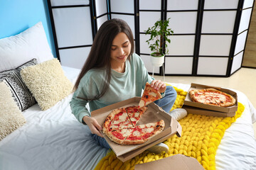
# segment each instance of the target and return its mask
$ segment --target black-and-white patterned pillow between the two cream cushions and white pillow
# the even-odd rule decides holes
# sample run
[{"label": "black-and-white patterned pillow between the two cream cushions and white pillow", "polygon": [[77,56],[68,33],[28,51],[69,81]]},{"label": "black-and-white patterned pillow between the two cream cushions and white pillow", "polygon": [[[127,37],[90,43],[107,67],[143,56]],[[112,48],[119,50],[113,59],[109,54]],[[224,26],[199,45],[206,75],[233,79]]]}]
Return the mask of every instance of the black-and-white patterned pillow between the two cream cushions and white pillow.
[{"label": "black-and-white patterned pillow between the two cream cushions and white pillow", "polygon": [[22,81],[20,72],[21,69],[36,64],[37,60],[33,59],[16,69],[0,72],[0,82],[4,81],[4,83],[9,86],[14,101],[16,101],[16,104],[21,111],[33,106],[36,103],[36,99],[32,96],[31,92]]}]

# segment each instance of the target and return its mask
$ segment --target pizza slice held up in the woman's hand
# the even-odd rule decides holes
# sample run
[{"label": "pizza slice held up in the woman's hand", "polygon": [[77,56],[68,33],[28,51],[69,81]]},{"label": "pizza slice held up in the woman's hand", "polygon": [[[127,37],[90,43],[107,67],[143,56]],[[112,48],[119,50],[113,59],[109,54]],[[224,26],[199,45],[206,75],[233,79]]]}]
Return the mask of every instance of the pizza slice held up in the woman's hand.
[{"label": "pizza slice held up in the woman's hand", "polygon": [[146,82],[146,86],[144,88],[144,93],[142,95],[141,100],[139,101],[139,107],[144,107],[149,103],[157,101],[161,98],[161,94],[158,90],[152,88],[149,82]]}]

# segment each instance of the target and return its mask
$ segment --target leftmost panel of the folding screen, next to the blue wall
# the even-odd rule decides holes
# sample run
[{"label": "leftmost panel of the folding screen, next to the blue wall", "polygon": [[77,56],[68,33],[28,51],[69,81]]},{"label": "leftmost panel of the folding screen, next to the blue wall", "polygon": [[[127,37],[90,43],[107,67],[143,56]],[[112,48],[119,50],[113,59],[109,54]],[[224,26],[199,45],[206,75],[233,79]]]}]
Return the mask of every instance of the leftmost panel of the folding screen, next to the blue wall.
[{"label": "leftmost panel of the folding screen, next to the blue wall", "polygon": [[48,6],[56,55],[64,66],[82,68],[93,40],[90,1],[48,0]]}]

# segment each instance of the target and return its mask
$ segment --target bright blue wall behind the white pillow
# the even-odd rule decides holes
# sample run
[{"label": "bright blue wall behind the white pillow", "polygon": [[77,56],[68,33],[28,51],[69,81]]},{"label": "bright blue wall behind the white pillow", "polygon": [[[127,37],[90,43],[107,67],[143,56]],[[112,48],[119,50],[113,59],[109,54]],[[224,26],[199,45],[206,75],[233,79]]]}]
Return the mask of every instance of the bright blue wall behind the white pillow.
[{"label": "bright blue wall behind the white pillow", "polygon": [[21,33],[39,21],[56,57],[47,0],[0,0],[0,38]]}]

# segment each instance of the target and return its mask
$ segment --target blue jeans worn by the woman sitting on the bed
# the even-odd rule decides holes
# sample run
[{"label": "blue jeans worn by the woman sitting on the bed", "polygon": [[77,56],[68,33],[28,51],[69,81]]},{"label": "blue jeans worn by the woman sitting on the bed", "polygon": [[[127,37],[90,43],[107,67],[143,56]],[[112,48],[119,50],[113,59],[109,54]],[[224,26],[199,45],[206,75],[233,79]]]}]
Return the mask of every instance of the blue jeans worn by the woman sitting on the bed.
[{"label": "blue jeans worn by the woman sitting on the bed", "polygon": [[[166,86],[165,96],[158,101],[154,101],[158,106],[164,109],[166,113],[171,111],[172,106],[174,106],[174,102],[176,100],[177,93],[173,86]],[[104,137],[100,137],[98,135],[92,134],[92,138],[95,140],[97,145],[101,147],[105,147],[107,149],[111,149],[110,145],[108,145],[107,141]]]}]

